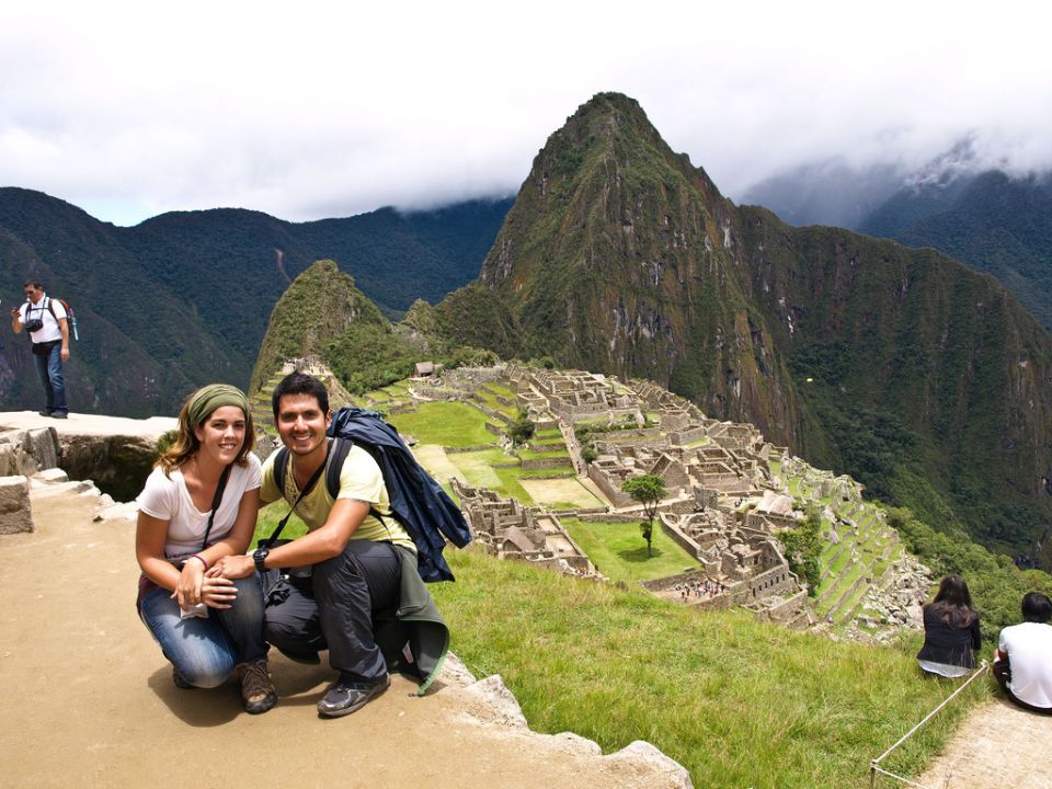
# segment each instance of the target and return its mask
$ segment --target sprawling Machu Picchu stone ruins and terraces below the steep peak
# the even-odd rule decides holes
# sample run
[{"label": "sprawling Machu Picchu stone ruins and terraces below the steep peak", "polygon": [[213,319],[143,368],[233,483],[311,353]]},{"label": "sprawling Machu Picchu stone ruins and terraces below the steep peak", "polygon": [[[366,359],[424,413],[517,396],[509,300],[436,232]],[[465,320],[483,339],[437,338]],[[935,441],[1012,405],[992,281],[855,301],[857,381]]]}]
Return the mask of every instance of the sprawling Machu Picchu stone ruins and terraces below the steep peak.
[{"label": "sprawling Machu Picchu stone ruins and terraces below the steep peak", "polygon": [[[319,363],[286,370],[294,366],[317,371]],[[740,606],[864,640],[919,627],[930,573],[864,501],[862,487],[811,467],[751,424],[709,419],[652,381],[518,364],[446,370],[422,363],[416,377],[357,404],[397,420],[435,401],[461,403],[483,421],[477,444],[418,451],[492,556],[603,579],[563,522],[638,524],[640,505],[622,487],[653,474],[666,491],[654,528],[694,562],[640,582],[659,597],[699,611]],[[534,433],[516,444],[512,425],[523,415]],[[808,511],[822,521],[815,588],[790,570],[779,539]]]}]

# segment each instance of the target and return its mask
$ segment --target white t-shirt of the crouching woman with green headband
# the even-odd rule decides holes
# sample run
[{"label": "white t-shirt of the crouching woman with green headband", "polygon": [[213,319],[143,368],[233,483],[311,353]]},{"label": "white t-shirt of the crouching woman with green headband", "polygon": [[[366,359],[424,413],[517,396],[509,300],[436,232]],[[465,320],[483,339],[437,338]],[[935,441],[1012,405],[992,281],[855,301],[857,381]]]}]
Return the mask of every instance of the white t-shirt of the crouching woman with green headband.
[{"label": "white t-shirt of the crouching woman with green headband", "polygon": [[[249,453],[247,466],[235,464],[230,467],[227,488],[216,508],[216,517],[208,533],[209,545],[226,537],[238,518],[241,496],[245,491],[256,490],[263,482],[260,459]],[[175,470],[171,476],[160,468],[146,479],[146,487],[136,499],[139,510],[161,521],[168,521],[168,539],[164,556],[172,561],[188,557],[202,549],[208,515],[211,511],[201,512],[194,506],[194,500],[186,490],[183,472]]]}]

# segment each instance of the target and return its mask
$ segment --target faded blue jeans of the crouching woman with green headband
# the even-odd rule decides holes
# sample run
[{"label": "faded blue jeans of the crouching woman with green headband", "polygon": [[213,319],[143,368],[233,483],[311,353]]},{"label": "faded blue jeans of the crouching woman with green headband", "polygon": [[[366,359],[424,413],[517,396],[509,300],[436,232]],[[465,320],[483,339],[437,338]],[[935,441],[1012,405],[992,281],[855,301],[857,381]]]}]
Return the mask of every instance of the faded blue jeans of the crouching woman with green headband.
[{"label": "faded blue jeans of the crouching woman with green headband", "polygon": [[167,588],[144,595],[139,615],[183,679],[195,687],[217,687],[239,663],[266,658],[263,640],[263,588],[260,576],[237,579],[232,608],[209,608],[208,618],[182,619]]}]

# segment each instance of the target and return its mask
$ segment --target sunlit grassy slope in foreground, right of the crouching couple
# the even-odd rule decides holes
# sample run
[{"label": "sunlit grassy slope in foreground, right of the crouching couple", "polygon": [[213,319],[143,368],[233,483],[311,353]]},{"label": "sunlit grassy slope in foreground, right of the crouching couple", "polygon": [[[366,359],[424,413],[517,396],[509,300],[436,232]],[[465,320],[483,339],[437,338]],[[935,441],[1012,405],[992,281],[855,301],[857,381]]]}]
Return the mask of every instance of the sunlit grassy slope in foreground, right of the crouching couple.
[{"label": "sunlit grassy slope in foreground, right of the crouching couple", "polygon": [[[868,786],[870,759],[957,686],[921,677],[918,643],[834,642],[473,551],[446,557],[457,583],[432,591],[454,651],[477,676],[500,674],[535,730],[606,752],[647,740],[696,787]],[[885,765],[915,774],[987,695],[973,683]]]}]

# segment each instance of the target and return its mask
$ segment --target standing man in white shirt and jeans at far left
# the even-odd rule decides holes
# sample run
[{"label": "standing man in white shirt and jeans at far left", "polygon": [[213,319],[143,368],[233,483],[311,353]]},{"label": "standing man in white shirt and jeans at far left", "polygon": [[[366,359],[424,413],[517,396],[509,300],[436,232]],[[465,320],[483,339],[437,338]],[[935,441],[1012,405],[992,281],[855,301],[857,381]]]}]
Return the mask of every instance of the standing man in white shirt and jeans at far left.
[{"label": "standing man in white shirt and jeans at far left", "polygon": [[69,361],[69,327],[61,301],[49,298],[44,286],[34,279],[23,285],[26,301],[11,310],[11,330],[21,334],[25,329],[33,343],[36,371],[44,385],[46,404],[42,416],[66,419],[66,377],[62,363]]}]

